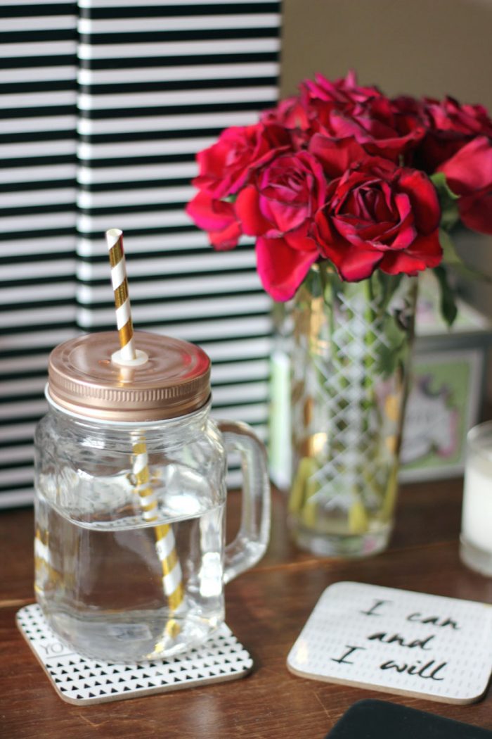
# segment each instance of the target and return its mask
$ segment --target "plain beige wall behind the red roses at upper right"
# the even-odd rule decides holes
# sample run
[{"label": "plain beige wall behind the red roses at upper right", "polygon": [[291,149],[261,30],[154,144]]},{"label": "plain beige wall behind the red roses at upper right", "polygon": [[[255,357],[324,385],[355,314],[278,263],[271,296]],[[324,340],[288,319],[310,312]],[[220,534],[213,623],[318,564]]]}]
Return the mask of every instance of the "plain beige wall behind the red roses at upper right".
[{"label": "plain beige wall behind the red roses at upper right", "polygon": [[[353,67],[388,95],[448,94],[492,114],[492,0],[283,0],[283,18],[283,96]],[[492,276],[492,237],[460,251]],[[463,287],[492,319],[492,285]]]}]

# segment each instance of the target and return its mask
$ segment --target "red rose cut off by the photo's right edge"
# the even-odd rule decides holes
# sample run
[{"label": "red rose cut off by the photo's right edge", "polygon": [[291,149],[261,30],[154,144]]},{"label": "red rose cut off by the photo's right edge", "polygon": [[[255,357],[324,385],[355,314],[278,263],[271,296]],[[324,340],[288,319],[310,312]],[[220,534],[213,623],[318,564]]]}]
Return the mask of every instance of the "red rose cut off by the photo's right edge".
[{"label": "red rose cut off by the photo's right edge", "polygon": [[492,234],[492,143],[479,136],[440,166],[451,190],[460,195],[462,222],[474,231]]}]

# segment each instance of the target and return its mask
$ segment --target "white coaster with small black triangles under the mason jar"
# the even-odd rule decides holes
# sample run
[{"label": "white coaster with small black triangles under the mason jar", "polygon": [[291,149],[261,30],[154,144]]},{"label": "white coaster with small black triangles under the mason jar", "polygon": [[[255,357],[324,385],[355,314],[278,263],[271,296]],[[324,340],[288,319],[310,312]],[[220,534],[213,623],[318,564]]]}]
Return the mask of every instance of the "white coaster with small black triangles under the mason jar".
[{"label": "white coaster with small black triangles under the mason jar", "polygon": [[114,664],[75,653],[49,628],[38,605],[21,608],[17,625],[60,698],[76,705],[235,680],[253,667],[251,655],[225,624],[201,647],[139,664]]}]

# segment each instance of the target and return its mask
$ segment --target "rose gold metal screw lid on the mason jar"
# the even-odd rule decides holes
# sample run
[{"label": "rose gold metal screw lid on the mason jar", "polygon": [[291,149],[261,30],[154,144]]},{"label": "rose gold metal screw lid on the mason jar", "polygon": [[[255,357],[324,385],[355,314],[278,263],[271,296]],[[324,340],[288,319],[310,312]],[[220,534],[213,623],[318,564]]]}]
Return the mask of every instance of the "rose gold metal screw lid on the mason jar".
[{"label": "rose gold metal screw lid on the mason jar", "polygon": [[143,331],[135,332],[135,344],[148,355],[137,367],[111,361],[117,331],[60,344],[49,356],[49,397],[77,415],[114,421],[176,418],[207,403],[210,360],[200,347]]}]

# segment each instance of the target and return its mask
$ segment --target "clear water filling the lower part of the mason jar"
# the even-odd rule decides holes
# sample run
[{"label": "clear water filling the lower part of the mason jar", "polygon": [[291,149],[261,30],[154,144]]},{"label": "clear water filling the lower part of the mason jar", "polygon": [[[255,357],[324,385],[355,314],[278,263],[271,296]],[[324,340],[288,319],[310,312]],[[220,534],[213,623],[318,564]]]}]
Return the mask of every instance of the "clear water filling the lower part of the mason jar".
[{"label": "clear water filling the lower part of the mason jar", "polygon": [[[117,499],[124,486],[112,482]],[[224,503],[183,514],[187,505],[173,497],[176,511],[181,507],[166,520],[181,567],[176,607],[165,593],[155,524],[123,514],[75,520],[40,483],[36,595],[52,628],[75,650],[108,661],[160,658],[201,644],[221,624]],[[109,483],[104,490],[111,497]]]}]

